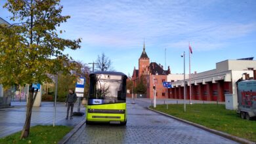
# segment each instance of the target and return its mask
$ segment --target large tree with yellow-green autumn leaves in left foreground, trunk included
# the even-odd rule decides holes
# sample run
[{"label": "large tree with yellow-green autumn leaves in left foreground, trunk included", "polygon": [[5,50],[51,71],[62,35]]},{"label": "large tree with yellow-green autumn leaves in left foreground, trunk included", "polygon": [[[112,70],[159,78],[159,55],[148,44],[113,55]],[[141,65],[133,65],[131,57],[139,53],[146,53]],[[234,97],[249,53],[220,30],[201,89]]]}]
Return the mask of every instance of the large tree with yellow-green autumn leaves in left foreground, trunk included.
[{"label": "large tree with yellow-green autumn leaves in left foreground, trunk included", "polygon": [[[20,138],[30,134],[33,102],[33,83],[51,81],[48,74],[68,73],[72,65],[66,48],[80,48],[81,39],[62,39],[56,28],[70,16],[62,16],[60,0],[8,0],[4,8],[12,13],[11,27],[0,26],[0,83],[3,86],[30,84],[26,121]],[[65,65],[65,66],[64,66]]]}]

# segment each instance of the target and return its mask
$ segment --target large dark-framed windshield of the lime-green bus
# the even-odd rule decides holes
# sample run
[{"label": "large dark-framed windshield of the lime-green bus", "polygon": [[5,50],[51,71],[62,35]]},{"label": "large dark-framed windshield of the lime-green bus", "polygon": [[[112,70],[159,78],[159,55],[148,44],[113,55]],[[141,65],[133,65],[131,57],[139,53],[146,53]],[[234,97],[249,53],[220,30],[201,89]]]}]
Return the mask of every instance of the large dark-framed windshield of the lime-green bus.
[{"label": "large dark-framed windshield of the lime-green bus", "polygon": [[90,75],[89,105],[124,103],[126,79],[121,75]]}]

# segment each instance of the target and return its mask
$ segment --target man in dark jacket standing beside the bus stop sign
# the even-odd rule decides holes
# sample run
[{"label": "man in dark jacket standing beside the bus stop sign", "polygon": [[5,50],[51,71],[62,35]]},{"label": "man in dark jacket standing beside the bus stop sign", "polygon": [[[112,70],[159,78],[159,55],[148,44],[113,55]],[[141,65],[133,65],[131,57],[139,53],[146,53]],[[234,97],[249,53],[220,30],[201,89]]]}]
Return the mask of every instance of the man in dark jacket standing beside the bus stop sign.
[{"label": "man in dark jacket standing beside the bus stop sign", "polygon": [[66,107],[68,106],[66,120],[68,119],[69,111],[70,111],[70,120],[73,119],[72,114],[73,114],[73,108],[74,108],[74,103],[75,103],[76,99],[77,99],[77,96],[76,96],[74,90],[70,89],[69,93],[67,95],[67,98],[66,98]]}]

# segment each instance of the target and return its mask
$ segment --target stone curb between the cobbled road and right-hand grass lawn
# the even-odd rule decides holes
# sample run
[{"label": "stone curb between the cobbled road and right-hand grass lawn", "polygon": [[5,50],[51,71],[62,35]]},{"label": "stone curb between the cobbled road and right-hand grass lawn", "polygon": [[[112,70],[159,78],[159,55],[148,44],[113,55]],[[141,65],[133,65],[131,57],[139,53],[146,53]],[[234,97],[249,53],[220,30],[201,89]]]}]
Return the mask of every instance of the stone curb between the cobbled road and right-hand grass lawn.
[{"label": "stone curb between the cobbled road and right-hand grass lawn", "polygon": [[[148,107],[148,109],[150,109],[150,107]],[[151,110],[151,111],[154,111],[154,112],[156,112],[156,113],[160,113],[161,115],[165,115],[165,116],[167,116],[167,117],[171,117],[171,118],[173,118],[173,119],[175,119],[175,120],[179,120],[179,121],[184,122],[184,123],[186,123],[186,124],[190,124],[190,125],[192,125],[192,126],[196,126],[197,128],[201,128],[202,130],[205,130],[205,131],[207,131],[207,132],[211,132],[211,133],[213,133],[213,134],[220,135],[220,136],[222,136],[222,137],[226,137],[226,138],[231,139],[231,140],[233,140],[233,141],[236,141],[236,142],[238,142],[238,143],[250,143],[250,144],[255,144],[255,142],[249,141],[249,140],[247,140],[247,139],[243,139],[243,138],[241,138],[241,137],[237,137],[237,136],[234,136],[234,135],[226,134],[226,133],[224,133],[224,132],[220,132],[220,131],[217,131],[217,130],[213,130],[213,129],[211,129],[211,128],[207,128],[207,127],[205,127],[205,126],[202,126],[202,125],[200,125],[200,124],[195,124],[195,123],[193,123],[193,122],[189,122],[189,121],[183,120],[183,119],[181,119],[181,118],[173,117],[172,115],[167,115],[166,113],[162,113],[162,112],[156,111],[156,110],[154,110],[154,109],[150,109],[150,110]]]}]

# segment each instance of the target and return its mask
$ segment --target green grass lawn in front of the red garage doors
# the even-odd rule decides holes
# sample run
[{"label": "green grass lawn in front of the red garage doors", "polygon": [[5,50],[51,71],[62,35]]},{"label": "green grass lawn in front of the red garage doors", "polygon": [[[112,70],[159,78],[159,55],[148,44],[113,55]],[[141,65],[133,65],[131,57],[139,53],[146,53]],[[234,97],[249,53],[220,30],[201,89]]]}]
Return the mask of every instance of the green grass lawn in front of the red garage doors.
[{"label": "green grass lawn in front of the red garage doors", "polygon": [[225,105],[186,105],[185,113],[182,104],[171,104],[168,107],[166,109],[166,105],[157,105],[155,110],[256,142],[256,120],[244,120],[236,111],[225,109]]}]

